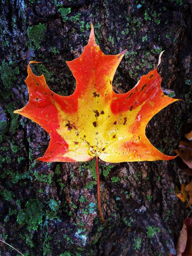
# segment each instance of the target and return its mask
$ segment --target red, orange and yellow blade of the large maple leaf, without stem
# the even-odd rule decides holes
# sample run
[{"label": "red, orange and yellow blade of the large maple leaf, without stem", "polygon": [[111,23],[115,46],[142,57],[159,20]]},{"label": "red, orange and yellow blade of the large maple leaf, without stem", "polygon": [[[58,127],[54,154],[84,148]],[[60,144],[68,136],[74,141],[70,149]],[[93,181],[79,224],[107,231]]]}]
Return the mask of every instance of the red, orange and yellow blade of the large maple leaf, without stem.
[{"label": "red, orange and yellow blade of the large maple leaf, without stem", "polygon": [[143,75],[127,93],[117,94],[112,89],[113,76],[125,53],[104,55],[91,24],[83,53],[66,62],[76,79],[76,89],[70,96],[51,91],[44,75],[31,71],[30,64],[37,62],[29,63],[25,82],[30,98],[14,113],[30,118],[50,134],[48,149],[38,160],[74,162],[98,156],[118,163],[175,158],[162,154],[145,135],[149,120],[177,101],[163,94],[157,68]]}]

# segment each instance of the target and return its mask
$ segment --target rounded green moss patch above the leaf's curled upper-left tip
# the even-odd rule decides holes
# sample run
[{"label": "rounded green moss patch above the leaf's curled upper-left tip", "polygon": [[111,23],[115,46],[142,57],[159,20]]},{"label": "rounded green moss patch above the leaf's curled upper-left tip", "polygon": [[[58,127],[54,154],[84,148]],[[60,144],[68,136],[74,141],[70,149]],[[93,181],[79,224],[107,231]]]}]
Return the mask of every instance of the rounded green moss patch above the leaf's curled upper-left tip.
[{"label": "rounded green moss patch above the leaf's curled upper-left tip", "polygon": [[40,43],[43,42],[43,40],[45,39],[45,30],[46,30],[45,24],[41,24],[41,23],[33,27],[28,27],[27,29],[28,38],[30,42],[34,43],[36,49],[41,48]]}]

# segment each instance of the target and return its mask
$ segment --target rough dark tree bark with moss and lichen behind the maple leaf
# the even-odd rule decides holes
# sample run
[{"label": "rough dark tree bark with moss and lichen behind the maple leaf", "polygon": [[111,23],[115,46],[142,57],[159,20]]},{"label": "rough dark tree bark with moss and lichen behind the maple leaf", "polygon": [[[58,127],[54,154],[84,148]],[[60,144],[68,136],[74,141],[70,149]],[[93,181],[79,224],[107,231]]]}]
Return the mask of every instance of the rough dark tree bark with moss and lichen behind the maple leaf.
[{"label": "rough dark tree bark with moss and lichen behind the maple leaf", "polygon": [[[146,134],[167,155],[177,148],[189,118],[189,2],[2,0],[0,239],[25,256],[176,255],[174,244],[189,213],[174,195],[174,184],[189,183],[178,160],[114,165],[99,160],[107,220],[102,224],[95,162],[36,161],[45,153],[49,136],[36,123],[13,114],[28,101],[24,80],[30,60],[43,62],[33,70],[44,73],[53,91],[73,93],[75,80],[65,62],[83,51],[91,21],[105,54],[128,49],[114,77],[116,92],[130,90],[166,50],[159,67],[162,87],[185,102],[158,113]],[[1,242],[0,254],[18,255]]]}]

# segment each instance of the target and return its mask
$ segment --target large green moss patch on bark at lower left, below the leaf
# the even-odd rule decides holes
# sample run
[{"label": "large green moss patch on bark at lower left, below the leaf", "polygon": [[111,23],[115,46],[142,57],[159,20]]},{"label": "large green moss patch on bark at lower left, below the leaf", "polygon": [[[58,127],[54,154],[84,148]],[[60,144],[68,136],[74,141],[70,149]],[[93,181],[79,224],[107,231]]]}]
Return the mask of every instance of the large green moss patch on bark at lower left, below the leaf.
[{"label": "large green moss patch on bark at lower left, below the leaf", "polygon": [[20,225],[27,225],[28,231],[37,230],[43,221],[43,204],[38,199],[30,199],[24,209],[20,209],[17,222]]}]

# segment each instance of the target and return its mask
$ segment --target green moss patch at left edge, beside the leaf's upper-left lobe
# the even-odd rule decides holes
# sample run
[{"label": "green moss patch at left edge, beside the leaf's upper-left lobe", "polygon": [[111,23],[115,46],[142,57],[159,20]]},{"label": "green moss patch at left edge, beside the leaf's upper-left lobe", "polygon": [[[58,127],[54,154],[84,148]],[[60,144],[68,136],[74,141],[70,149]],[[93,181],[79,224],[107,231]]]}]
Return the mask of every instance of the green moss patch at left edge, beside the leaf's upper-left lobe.
[{"label": "green moss patch at left edge, beside the leaf's upper-left lobe", "polygon": [[13,63],[7,63],[3,60],[2,65],[0,66],[0,74],[3,83],[1,95],[3,99],[7,99],[10,96],[10,88],[13,87],[13,81],[17,80],[19,68],[18,66],[14,68]]}]

